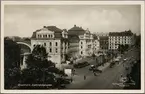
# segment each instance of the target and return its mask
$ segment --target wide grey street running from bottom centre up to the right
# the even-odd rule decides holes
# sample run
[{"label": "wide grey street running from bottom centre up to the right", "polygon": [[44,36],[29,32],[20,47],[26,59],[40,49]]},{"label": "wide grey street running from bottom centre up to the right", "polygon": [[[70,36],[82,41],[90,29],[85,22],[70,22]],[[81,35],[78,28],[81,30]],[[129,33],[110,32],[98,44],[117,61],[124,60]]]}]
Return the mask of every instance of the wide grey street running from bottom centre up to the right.
[{"label": "wide grey street running from bottom centre up to the right", "polygon": [[[123,59],[126,58],[126,61]],[[72,84],[67,86],[67,89],[123,89],[123,87],[117,85],[121,78],[126,77],[131,71],[130,62],[139,58],[139,51],[136,48],[132,48],[124,54],[119,64],[116,64],[113,68],[107,67],[101,74],[94,76],[93,72],[89,71],[89,66],[81,69],[76,69],[76,75],[73,77]],[[94,61],[91,61],[94,63]],[[125,68],[129,67],[128,70]],[[84,80],[84,75],[86,80]]]}]

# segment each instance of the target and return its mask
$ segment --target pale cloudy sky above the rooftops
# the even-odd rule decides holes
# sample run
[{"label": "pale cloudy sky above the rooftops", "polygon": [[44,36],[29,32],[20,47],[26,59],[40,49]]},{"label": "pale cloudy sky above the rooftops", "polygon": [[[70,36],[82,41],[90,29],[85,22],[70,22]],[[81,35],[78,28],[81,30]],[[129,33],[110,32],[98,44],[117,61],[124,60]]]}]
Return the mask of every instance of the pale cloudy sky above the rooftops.
[{"label": "pale cloudy sky above the rooftops", "polygon": [[92,33],[131,30],[140,34],[140,5],[5,5],[4,35],[31,37],[43,26]]}]

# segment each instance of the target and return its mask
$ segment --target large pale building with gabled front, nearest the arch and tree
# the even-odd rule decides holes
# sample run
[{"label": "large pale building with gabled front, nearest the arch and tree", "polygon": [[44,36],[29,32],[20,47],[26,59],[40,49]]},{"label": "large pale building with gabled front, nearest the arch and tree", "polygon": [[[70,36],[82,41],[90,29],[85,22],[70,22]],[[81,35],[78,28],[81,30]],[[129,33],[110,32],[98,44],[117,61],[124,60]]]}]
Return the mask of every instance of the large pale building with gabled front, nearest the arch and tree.
[{"label": "large pale building with gabled front, nearest the arch and tree", "polygon": [[32,49],[36,45],[42,45],[48,52],[48,60],[60,66],[65,61],[65,55],[68,51],[68,33],[56,26],[44,26],[43,28],[33,32],[31,37]]}]

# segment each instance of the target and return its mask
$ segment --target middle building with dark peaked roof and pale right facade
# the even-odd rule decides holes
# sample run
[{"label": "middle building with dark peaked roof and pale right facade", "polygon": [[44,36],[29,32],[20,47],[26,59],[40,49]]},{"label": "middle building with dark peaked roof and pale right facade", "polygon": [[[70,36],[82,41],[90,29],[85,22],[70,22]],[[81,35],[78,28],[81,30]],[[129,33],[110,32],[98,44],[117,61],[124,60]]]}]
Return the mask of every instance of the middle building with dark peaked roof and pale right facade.
[{"label": "middle building with dark peaked roof and pale right facade", "polygon": [[71,56],[85,57],[93,54],[93,35],[90,31],[74,25],[68,30],[69,53]]}]

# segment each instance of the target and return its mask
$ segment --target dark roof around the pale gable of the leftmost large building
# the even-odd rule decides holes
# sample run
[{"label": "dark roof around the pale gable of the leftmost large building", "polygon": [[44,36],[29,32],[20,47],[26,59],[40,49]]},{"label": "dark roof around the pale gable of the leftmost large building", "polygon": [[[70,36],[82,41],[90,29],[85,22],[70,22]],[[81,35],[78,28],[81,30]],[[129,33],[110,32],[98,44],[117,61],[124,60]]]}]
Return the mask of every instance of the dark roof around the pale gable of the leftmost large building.
[{"label": "dark roof around the pale gable of the leftmost large building", "polygon": [[[56,38],[60,38],[61,37],[61,32],[63,32],[63,30],[57,28],[56,26],[44,26],[43,28],[47,28],[50,31],[54,31]],[[38,29],[38,30],[34,31],[31,38],[36,38],[36,33],[41,31],[42,29]]]}]

